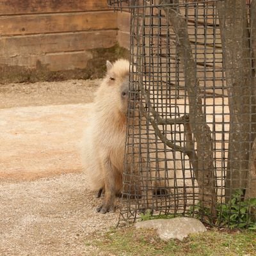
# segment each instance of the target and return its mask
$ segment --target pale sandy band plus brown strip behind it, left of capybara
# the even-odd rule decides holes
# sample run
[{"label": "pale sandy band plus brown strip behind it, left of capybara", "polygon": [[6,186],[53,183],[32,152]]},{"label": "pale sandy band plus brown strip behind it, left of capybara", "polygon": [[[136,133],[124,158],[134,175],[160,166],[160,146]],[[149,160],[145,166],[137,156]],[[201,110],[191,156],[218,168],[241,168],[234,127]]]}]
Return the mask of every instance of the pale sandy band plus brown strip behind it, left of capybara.
[{"label": "pale sandy band plus brown strip behind it, left of capybara", "polygon": [[99,83],[0,84],[0,179],[81,172],[79,141]]}]

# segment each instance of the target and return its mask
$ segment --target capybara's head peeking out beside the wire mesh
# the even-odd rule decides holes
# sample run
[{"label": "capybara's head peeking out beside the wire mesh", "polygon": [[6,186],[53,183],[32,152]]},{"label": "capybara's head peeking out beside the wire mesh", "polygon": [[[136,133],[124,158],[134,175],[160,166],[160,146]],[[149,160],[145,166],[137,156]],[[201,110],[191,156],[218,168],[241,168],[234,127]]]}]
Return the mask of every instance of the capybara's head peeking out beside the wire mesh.
[{"label": "capybara's head peeking out beside the wire mesh", "polygon": [[106,83],[113,92],[113,104],[126,115],[129,99],[129,61],[117,60],[113,64],[107,61]]}]

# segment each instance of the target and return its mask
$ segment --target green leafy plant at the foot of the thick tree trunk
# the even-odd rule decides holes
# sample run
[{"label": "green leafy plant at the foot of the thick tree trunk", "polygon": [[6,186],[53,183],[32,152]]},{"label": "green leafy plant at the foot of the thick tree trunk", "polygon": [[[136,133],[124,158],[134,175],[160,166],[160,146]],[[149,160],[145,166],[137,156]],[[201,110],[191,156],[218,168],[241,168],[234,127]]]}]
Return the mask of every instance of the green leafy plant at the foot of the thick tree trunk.
[{"label": "green leafy plant at the foot of the thick tree trunk", "polygon": [[237,190],[228,204],[218,205],[217,224],[230,228],[249,228],[256,230],[256,216],[253,214],[256,209],[256,198],[243,200],[243,191]]}]

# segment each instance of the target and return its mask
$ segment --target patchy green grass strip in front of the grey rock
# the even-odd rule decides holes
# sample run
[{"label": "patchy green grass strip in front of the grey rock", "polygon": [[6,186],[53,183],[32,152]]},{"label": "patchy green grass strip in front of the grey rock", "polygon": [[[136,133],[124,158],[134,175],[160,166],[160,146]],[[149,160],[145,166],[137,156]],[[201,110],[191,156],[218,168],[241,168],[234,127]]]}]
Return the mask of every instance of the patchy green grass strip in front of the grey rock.
[{"label": "patchy green grass strip in front of the grey rock", "polygon": [[161,241],[155,230],[113,228],[106,234],[95,234],[85,246],[98,248],[111,256],[184,256],[184,255],[256,255],[256,232],[253,230],[223,232],[209,230],[183,241]]}]

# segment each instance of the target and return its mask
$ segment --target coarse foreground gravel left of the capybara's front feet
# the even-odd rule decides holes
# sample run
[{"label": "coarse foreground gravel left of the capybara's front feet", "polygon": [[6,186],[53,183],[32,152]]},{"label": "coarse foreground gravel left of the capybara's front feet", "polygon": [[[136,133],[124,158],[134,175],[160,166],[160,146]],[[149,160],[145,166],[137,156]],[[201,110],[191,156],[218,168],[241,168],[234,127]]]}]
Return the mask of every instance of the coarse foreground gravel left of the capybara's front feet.
[{"label": "coarse foreground gravel left of the capybara's front feet", "polygon": [[99,214],[101,198],[83,174],[0,184],[0,255],[104,255],[86,237],[116,225],[118,212]]}]

